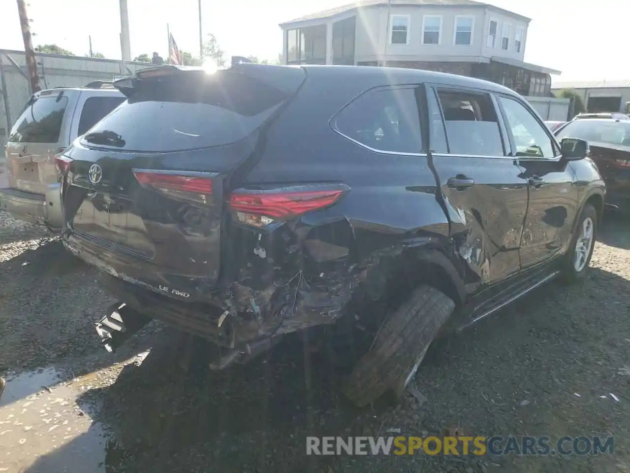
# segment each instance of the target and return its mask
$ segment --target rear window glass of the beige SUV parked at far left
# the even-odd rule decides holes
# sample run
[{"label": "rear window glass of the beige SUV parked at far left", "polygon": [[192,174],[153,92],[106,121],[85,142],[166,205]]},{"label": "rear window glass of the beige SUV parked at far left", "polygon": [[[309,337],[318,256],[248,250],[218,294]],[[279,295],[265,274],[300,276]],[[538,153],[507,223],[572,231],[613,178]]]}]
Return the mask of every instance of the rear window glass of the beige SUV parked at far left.
[{"label": "rear window glass of the beige SUV parked at far left", "polygon": [[9,141],[57,143],[67,105],[64,96],[31,99],[11,129]]}]

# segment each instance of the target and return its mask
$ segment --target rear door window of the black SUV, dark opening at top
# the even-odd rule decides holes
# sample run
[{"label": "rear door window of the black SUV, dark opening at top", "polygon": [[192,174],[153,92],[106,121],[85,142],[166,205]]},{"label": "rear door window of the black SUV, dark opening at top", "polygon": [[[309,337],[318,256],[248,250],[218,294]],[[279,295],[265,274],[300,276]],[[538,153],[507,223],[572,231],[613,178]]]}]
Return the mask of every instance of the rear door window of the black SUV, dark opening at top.
[{"label": "rear door window of the black SUV, dark opening at top", "polygon": [[495,106],[489,95],[438,90],[449,153],[470,156],[504,156]]}]

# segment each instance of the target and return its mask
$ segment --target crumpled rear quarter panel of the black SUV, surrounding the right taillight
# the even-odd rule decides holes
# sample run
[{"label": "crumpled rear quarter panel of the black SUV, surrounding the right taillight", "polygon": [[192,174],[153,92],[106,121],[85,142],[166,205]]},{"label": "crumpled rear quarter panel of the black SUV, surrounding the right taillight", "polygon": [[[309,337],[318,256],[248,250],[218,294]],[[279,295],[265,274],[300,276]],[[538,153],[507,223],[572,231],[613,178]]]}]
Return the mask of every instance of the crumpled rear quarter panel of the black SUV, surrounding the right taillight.
[{"label": "crumpled rear quarter panel of the black SUV, surrounding the right taillight", "polygon": [[[354,96],[369,88],[360,81],[348,86]],[[394,271],[387,262],[404,251],[454,255],[427,156],[371,151],[328,126],[347,102],[344,87],[331,84],[321,95],[321,87],[311,90],[307,80],[268,130],[262,158],[243,183],[286,187],[307,180],[350,187],[333,206],[271,231],[232,228],[238,276],[222,304],[259,317],[261,334],[333,322],[360,286],[375,296]]]}]

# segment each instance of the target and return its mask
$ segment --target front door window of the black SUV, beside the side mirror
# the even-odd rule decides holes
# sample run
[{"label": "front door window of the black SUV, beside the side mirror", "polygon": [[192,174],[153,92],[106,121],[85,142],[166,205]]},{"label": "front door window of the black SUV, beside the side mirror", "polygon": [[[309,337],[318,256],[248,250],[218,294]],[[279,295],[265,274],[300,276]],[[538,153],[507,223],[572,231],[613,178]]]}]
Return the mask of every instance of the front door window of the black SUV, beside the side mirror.
[{"label": "front door window of the black SUV, beside the side mirror", "polygon": [[555,147],[551,137],[534,114],[513,98],[499,97],[503,105],[516,146],[516,156],[527,158],[553,158]]}]

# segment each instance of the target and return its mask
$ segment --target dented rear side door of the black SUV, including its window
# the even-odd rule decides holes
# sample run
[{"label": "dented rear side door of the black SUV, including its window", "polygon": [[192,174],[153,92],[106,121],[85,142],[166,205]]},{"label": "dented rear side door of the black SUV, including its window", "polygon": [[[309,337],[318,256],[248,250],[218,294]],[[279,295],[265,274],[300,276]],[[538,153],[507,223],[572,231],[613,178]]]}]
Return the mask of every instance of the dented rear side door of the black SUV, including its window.
[{"label": "dented rear side door of the black SUV, including its window", "polygon": [[520,269],[527,179],[513,158],[493,96],[481,90],[429,87],[430,147],[451,237],[482,284]]}]

